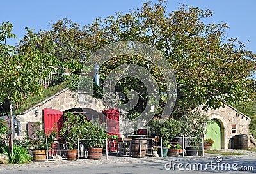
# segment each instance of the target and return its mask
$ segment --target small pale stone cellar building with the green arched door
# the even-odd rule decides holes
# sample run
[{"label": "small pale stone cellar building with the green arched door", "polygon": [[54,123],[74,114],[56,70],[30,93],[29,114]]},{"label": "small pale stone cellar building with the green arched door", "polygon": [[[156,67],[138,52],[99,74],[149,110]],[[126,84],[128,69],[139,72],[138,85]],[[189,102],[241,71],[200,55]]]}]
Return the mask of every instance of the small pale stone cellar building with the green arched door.
[{"label": "small pale stone cellar building with the green arched door", "polygon": [[225,105],[218,110],[207,110],[204,114],[211,120],[211,124],[206,126],[204,137],[214,140],[212,149],[233,149],[234,136],[246,134],[249,137],[250,117],[233,106]]}]

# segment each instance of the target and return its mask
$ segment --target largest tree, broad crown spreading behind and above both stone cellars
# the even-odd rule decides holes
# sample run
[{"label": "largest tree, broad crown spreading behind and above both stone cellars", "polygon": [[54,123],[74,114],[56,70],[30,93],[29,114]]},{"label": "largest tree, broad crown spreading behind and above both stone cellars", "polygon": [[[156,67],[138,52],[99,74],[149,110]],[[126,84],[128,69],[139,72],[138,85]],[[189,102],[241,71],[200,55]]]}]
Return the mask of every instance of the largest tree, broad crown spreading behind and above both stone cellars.
[{"label": "largest tree, broad crown spreading behind and above both stone cellars", "polygon": [[[237,38],[227,39],[227,24],[202,21],[211,16],[211,10],[184,4],[169,13],[164,1],[147,2],[141,9],[97,18],[84,27],[63,19],[52,24],[50,32],[57,44],[58,59],[80,68],[84,57],[88,58],[99,48],[116,41],[140,41],[156,48],[173,68],[179,87],[175,113],[183,115],[201,104],[205,104],[205,108],[218,108],[255,99],[255,80],[250,78],[256,71],[255,54],[246,50]],[[106,62],[100,70],[102,80],[111,69],[125,63],[148,69],[156,77],[161,94],[166,91],[159,69],[134,55],[113,57]],[[147,91],[136,78],[125,78],[116,87],[116,91],[124,93],[132,89],[140,92],[142,103],[147,101]],[[164,97],[160,104],[161,111],[165,105]],[[143,105],[140,107],[143,110]]]}]

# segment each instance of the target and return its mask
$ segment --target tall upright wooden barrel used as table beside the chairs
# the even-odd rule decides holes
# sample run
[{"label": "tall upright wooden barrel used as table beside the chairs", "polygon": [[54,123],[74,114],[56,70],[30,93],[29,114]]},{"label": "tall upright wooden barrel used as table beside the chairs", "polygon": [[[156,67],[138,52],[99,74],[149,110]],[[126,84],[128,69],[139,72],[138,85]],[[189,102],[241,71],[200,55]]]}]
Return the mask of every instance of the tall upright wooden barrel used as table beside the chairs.
[{"label": "tall upright wooden barrel used as table beside the chairs", "polygon": [[132,138],[131,151],[132,157],[145,157],[147,151],[147,140],[137,137]]}]

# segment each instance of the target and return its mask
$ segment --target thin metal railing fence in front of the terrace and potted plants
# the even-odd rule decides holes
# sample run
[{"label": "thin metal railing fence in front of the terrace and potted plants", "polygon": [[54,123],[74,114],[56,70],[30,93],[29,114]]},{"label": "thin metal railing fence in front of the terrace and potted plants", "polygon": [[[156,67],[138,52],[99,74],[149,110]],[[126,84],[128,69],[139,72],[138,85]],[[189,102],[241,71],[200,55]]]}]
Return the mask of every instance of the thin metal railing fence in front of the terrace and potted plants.
[{"label": "thin metal railing fence in front of the terrace and potted plants", "polygon": [[[158,149],[161,150],[159,152],[159,156],[163,157],[163,148],[166,144],[169,146],[177,145],[179,144],[181,147],[181,152],[179,153],[179,156],[185,156],[186,155],[186,148],[191,147],[191,144],[196,142],[196,147],[198,147],[198,156],[204,156],[204,139],[198,138],[198,137],[174,137],[174,138],[162,138],[162,137],[136,137],[137,140],[140,141],[138,144],[138,156],[137,157],[143,157],[143,151],[145,150],[145,154],[147,156],[152,156],[153,150]],[[8,141],[8,140],[7,140]],[[33,145],[33,141],[36,140],[14,140],[15,145],[19,145],[22,147],[26,147],[29,150],[29,153],[35,149],[35,146]],[[96,140],[88,140],[88,139],[77,139],[77,140],[54,140],[51,144],[49,143],[49,140],[41,140],[42,143],[45,143],[46,148],[46,161],[49,159],[52,159],[53,156],[59,155],[63,159],[66,159],[66,150],[68,149],[68,144],[70,141],[76,142],[75,149],[77,149],[77,159],[88,159],[88,146],[86,145],[86,141],[96,141]],[[132,151],[134,152],[134,149],[132,149],[132,138],[127,138],[123,141],[116,141],[116,139],[113,139],[113,142],[109,141],[109,138],[104,140],[106,143],[103,147],[102,154],[106,156],[106,159],[108,159],[108,156],[132,156]],[[143,142],[145,143],[145,149],[143,149],[142,145]],[[112,143],[112,144],[111,144]],[[114,143],[114,144],[113,144]],[[125,150],[124,150],[125,148]],[[122,152],[121,152],[122,150]],[[126,153],[125,153],[126,152]]]}]

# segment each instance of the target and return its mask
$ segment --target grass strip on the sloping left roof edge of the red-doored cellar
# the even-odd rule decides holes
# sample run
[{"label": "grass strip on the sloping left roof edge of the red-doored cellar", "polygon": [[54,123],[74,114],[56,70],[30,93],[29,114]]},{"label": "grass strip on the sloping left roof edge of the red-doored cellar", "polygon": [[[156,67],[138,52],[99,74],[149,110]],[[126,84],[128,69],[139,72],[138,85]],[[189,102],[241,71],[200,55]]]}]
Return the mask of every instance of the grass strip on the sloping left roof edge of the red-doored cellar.
[{"label": "grass strip on the sloping left roof edge of the red-doored cellar", "polygon": [[16,114],[22,113],[26,110],[28,110],[29,108],[35,106],[36,104],[40,103],[41,101],[44,101],[45,99],[51,97],[52,95],[56,94],[57,92],[61,91],[62,89],[65,89],[67,87],[67,82],[63,82],[60,85],[55,85],[52,87],[48,87],[47,89],[44,89],[44,91],[42,91],[41,95],[35,95],[35,96],[31,96],[27,99],[25,99],[22,102],[22,105],[17,108],[16,110]]}]

